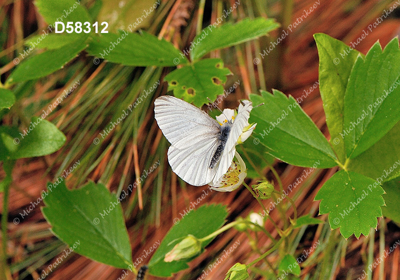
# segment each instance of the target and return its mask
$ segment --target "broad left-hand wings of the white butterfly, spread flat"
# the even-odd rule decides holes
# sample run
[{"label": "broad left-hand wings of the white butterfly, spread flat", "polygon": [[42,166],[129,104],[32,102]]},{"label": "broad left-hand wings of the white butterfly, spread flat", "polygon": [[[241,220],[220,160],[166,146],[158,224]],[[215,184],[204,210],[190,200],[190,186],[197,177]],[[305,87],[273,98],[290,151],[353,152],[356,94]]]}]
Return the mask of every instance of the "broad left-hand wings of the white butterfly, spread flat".
[{"label": "broad left-hand wings of the white butterfly, spread flat", "polygon": [[192,185],[209,183],[215,174],[215,169],[208,165],[218,145],[218,122],[173,96],[160,96],[154,105],[158,126],[171,143],[168,162],[172,171]]}]

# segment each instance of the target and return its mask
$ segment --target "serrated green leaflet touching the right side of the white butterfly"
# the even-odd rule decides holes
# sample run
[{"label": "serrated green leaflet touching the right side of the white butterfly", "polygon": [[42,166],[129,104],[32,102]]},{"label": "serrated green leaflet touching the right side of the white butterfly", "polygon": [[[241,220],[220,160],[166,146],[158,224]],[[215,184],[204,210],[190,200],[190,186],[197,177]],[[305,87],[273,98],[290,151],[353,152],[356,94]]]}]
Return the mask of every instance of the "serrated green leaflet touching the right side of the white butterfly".
[{"label": "serrated green leaflet touching the right side of the white butterfly", "polygon": [[262,91],[251,94],[253,105],[249,122],[257,125],[252,133],[254,144],[267,147],[268,153],[287,163],[314,168],[336,165],[335,154],[321,131],[296,100],[282,92]]}]

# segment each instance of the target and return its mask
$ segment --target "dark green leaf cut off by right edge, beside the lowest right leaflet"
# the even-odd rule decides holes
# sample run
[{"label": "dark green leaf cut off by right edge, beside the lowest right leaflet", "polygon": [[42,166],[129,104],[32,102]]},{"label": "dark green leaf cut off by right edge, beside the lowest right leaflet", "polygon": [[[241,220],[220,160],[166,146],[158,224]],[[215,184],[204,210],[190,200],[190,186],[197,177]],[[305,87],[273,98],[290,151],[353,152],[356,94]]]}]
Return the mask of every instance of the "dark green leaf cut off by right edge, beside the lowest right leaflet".
[{"label": "dark green leaf cut off by right edge, beside the lowest right leaflet", "polygon": [[382,185],[384,191],[383,199],[385,206],[382,206],[382,213],[385,217],[400,223],[400,177],[394,178]]}]

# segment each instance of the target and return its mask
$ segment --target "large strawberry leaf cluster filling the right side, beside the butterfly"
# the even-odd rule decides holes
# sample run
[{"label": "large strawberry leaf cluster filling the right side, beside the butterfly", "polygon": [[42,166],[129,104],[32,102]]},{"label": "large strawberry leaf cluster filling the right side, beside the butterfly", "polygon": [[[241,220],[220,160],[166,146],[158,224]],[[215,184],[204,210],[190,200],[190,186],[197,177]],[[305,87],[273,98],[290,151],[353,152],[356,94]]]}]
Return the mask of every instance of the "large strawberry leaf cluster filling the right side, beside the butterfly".
[{"label": "large strawberry leaf cluster filling the right side, beside the butterfly", "polygon": [[[251,95],[253,143],[293,165],[339,166],[315,199],[344,237],[367,235],[382,216],[384,182],[400,174],[400,49],[392,39],[366,55],[326,34],[314,35],[319,86],[330,142],[292,97],[278,90]],[[398,185],[397,185],[398,187]],[[387,184],[393,189],[393,184]],[[398,190],[398,188],[397,188]],[[390,191],[390,190],[389,190]],[[393,215],[391,205],[385,212]]]}]

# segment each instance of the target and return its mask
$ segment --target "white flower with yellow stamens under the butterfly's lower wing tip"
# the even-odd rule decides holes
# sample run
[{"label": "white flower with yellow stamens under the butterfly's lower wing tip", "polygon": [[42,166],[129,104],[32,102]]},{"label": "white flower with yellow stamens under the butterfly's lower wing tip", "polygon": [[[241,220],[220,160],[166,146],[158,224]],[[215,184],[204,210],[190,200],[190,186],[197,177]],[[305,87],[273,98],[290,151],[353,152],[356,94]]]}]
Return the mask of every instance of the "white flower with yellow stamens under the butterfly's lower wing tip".
[{"label": "white flower with yellow stamens under the butterfly's lower wing tip", "polygon": [[235,151],[234,155],[235,158],[233,158],[232,164],[230,164],[226,173],[221,178],[209,183],[211,189],[216,191],[232,191],[243,183],[247,175],[246,164],[237,151]]}]

